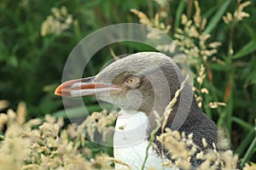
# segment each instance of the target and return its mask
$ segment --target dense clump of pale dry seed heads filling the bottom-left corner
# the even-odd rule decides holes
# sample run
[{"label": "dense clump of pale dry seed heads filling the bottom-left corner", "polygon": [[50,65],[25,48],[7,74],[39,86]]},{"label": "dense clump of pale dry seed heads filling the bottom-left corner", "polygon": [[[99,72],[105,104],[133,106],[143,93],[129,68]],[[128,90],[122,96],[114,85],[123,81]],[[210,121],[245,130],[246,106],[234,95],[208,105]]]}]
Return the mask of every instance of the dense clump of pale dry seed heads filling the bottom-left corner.
[{"label": "dense clump of pale dry seed heads filling the bottom-left corner", "polygon": [[[63,128],[62,118],[49,115],[45,116],[45,122],[39,119],[23,122],[26,120],[24,103],[17,111],[20,111],[19,115],[13,110],[1,114],[1,118],[5,117],[1,126],[7,126],[7,129],[0,143],[0,169],[113,169],[110,166],[113,160],[105,154],[92,159],[84,133],[79,133],[78,127]],[[102,121],[96,126],[105,125],[108,123]]]}]

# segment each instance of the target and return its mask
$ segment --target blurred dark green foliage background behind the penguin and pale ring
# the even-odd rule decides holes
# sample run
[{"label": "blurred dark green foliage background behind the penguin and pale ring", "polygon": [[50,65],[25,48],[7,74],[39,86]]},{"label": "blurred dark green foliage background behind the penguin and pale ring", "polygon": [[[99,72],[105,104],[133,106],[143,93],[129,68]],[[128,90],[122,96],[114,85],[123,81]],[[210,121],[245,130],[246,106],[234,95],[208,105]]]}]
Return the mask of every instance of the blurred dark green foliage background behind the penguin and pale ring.
[{"label": "blurred dark green foliage background behind the penguin and pale ring", "polygon": [[[43,117],[45,114],[65,116],[61,97],[55,96],[54,90],[61,83],[68,55],[83,37],[103,26],[139,23],[137,15],[131,13],[131,8],[142,11],[152,20],[154,14],[165,11],[167,16],[161,21],[172,26],[168,34],[174,39],[177,28],[182,27],[182,14],[193,20],[193,0],[164,1],[167,2],[165,6],[159,2],[2,0],[0,98],[7,99],[10,108],[16,108],[20,101],[25,101],[27,119]],[[230,24],[223,20],[227,12],[234,14],[240,3],[236,0],[199,0],[201,16],[207,19],[206,31],[212,36],[208,41],[221,42],[222,45],[215,54],[219,62],[206,63],[201,60],[197,63],[207,66],[204,87],[209,89],[209,94],[203,94],[204,101],[226,103],[225,107],[216,110],[210,110],[209,107],[202,109],[218,123],[218,127],[224,128],[226,136],[230,138],[231,148],[240,157],[245,157],[243,161],[255,161],[256,2],[251,1],[252,4],[244,8],[249,17]],[[56,16],[58,14],[60,16]],[[118,55],[148,50],[144,46],[129,43],[111,48]],[[110,48],[103,48],[90,60],[90,67],[84,71],[84,77],[95,75],[109,59],[112,59]],[[95,99],[84,102],[90,112],[100,111]]]}]

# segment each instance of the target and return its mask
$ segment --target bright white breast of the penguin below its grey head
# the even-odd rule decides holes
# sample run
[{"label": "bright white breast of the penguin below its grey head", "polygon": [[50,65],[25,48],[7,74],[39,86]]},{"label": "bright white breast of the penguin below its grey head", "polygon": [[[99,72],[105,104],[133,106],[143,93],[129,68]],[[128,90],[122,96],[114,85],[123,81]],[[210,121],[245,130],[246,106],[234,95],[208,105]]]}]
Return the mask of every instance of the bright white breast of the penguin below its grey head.
[{"label": "bright white breast of the penguin below its grey head", "polygon": [[[113,135],[113,155],[116,160],[128,164],[131,169],[141,169],[148,147],[148,116],[143,112],[120,111],[117,119],[115,133]],[[148,159],[145,169],[153,167],[163,168],[161,165],[166,159],[161,159],[153,147],[148,150]],[[129,169],[116,163],[115,169]]]}]

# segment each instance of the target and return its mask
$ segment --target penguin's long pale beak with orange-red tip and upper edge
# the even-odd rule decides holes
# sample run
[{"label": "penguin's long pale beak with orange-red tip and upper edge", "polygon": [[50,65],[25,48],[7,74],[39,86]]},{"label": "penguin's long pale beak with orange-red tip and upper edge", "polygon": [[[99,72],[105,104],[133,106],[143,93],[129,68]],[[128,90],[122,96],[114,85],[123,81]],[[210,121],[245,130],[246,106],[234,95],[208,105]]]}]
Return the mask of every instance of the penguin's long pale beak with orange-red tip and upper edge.
[{"label": "penguin's long pale beak with orange-red tip and upper edge", "polygon": [[103,92],[122,89],[112,84],[95,82],[94,80],[95,77],[87,77],[63,82],[55,89],[55,94],[69,97],[95,96]]}]

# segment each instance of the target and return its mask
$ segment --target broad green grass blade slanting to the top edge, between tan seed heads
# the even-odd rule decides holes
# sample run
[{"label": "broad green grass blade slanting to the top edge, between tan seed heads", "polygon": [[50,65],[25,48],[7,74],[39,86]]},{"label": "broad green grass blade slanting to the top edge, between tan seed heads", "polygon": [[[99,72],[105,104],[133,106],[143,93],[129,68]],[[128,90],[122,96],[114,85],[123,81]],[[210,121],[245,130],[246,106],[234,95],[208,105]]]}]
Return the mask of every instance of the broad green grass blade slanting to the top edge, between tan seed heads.
[{"label": "broad green grass blade slanting to the top edge, between tan seed heads", "polygon": [[206,33],[211,33],[212,30],[218,25],[218,21],[222,19],[226,8],[228,8],[228,6],[230,5],[230,2],[231,0],[224,1],[222,6],[218,8],[218,11],[216,12],[216,14],[213,15],[212,19],[209,21],[209,24],[206,27]]}]

